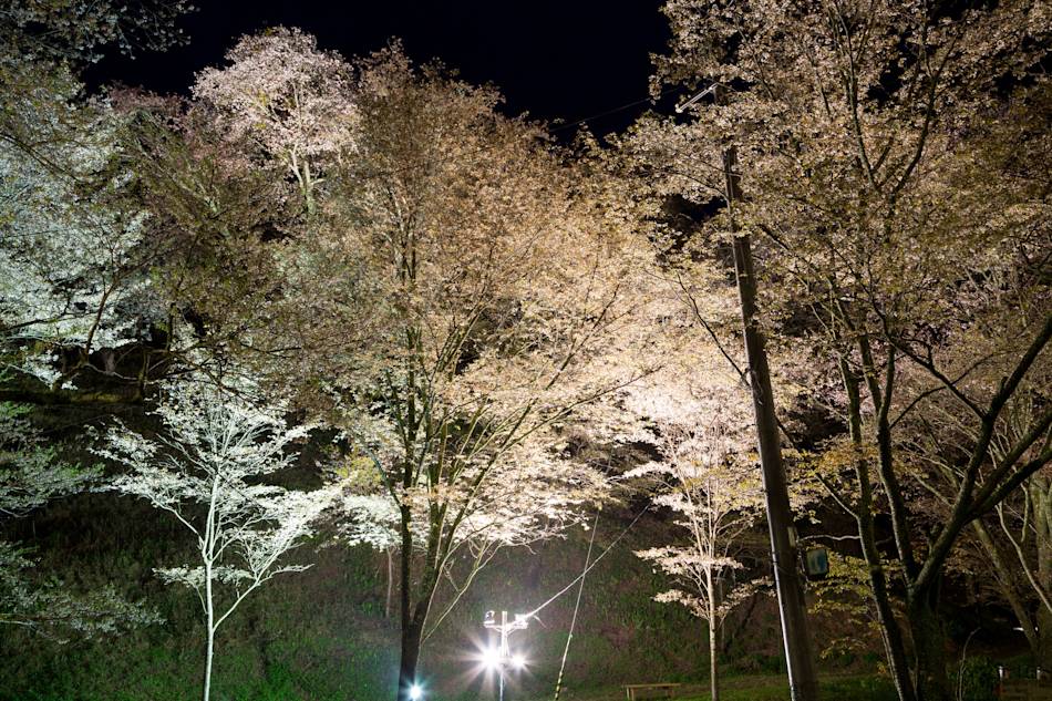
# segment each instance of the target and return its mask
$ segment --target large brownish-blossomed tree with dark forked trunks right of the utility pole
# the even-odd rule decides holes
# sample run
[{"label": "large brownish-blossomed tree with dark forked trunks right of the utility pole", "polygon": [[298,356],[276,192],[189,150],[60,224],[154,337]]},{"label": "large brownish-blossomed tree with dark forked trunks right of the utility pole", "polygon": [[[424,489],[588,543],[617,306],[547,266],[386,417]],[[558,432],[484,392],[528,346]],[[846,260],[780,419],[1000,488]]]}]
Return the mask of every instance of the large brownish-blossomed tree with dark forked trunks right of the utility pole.
[{"label": "large brownish-blossomed tree with dark forked trunks right of the utility pole", "polygon": [[[641,124],[636,145],[667,192],[699,205],[719,204],[722,151],[736,148],[745,199],[733,225],[763,241],[767,323],[812,346],[802,381],[824,368],[812,386],[840,384],[814,401],[836,406],[853,446],[843,463],[853,491],[834,498],[858,526],[893,679],[904,700],[948,698],[938,614],[947,558],[969,523],[1052,460],[1045,447],[1030,453],[1044,446],[1048,413],[1002,457],[991,451],[1052,334],[1035,274],[1048,260],[1046,173],[1033,168],[1046,159],[1049,16],[1024,1],[675,0],[666,13],[672,51],[656,84],[716,83],[721,104],[698,101],[693,122]],[[1025,161],[1010,146],[1023,142],[1034,148]],[[732,228],[728,216],[709,219],[714,240]],[[992,367],[1002,381],[968,385]],[[908,379],[915,372],[926,381]],[[932,523],[909,504],[918,462],[901,450],[904,416],[942,393],[966,410],[972,440],[941,456],[962,480],[948,517]],[[876,547],[879,504],[901,565],[901,622]]]}]

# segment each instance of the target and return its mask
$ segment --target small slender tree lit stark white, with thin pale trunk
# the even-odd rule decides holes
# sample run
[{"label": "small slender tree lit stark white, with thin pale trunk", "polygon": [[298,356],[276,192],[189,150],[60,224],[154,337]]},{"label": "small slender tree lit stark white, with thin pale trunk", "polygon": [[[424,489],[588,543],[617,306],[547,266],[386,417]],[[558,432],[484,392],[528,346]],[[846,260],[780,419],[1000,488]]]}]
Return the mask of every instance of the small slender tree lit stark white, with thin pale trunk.
[{"label": "small slender tree lit stark white, with thin pale trunk", "polygon": [[184,381],[165,388],[156,415],[163,423],[157,437],[117,425],[96,452],[131,470],[113,482],[114,491],[147,499],[194,535],[197,563],[156,571],[200,600],[207,701],[219,626],[274,577],[309,567],[283,556],[313,533],[334,494],[259,481],[289,465],[295,455],[287,449],[307,434],[305,426],[287,427],[279,406],[260,408],[212,383]]}]

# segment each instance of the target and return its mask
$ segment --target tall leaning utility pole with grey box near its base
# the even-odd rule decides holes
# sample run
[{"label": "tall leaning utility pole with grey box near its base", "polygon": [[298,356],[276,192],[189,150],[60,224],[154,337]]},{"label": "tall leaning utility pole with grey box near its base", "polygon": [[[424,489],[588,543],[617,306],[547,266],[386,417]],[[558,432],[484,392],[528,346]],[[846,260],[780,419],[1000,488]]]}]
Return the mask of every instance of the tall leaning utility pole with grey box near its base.
[{"label": "tall leaning utility pole with grey box near its base", "polygon": [[[719,87],[713,91],[719,101]],[[712,90],[712,89],[710,89]],[[774,413],[774,393],[771,390],[771,369],[763,332],[756,320],[756,277],[747,234],[738,231],[734,223],[734,202],[741,199],[741,174],[738,173],[738,150],[730,146],[723,152],[723,173],[726,184],[728,218],[734,235],[734,271],[738,295],[742,306],[742,326],[745,336],[745,359],[749,363],[749,386],[752,390],[756,414],[756,434],[760,443],[760,465],[766,497],[767,526],[771,530],[771,561],[774,584],[778,592],[782,615],[782,640],[785,645],[785,664],[788,670],[793,701],[817,701],[818,682],[815,657],[807,629],[807,608],[800,575],[796,551],[796,528],[790,509],[785,465],[782,462],[782,442]]]}]

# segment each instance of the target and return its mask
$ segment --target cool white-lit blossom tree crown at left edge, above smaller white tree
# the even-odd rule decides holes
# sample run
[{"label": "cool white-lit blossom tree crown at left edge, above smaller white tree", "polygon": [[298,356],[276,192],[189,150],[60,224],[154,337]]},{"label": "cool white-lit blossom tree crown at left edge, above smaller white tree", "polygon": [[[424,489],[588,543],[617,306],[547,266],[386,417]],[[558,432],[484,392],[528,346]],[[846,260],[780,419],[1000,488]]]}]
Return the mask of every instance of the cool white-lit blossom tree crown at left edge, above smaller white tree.
[{"label": "cool white-lit blossom tree crown at left edge, above smaller white tree", "polygon": [[0,144],[0,333],[21,357],[13,365],[53,393],[82,371],[115,375],[121,347],[165,311],[147,275],[157,251],[144,243],[146,214],[115,163],[120,122],[92,112],[45,163]]}]

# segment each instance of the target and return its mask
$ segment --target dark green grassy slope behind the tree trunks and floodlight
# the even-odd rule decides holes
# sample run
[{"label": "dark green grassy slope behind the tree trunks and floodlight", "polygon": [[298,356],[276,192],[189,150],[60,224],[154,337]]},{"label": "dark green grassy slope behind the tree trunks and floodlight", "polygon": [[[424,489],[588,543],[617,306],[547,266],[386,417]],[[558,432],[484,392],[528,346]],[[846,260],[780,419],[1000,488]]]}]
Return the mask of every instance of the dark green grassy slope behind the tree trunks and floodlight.
[{"label": "dark green grassy slope behind the tree trunks and floodlight", "polygon": [[[41,569],[85,588],[113,584],[145,598],[165,623],[104,641],[64,647],[0,627],[0,701],[183,701],[197,697],[202,642],[199,607],[187,590],[161,585],[154,567],[178,563],[184,534],[148,508],[114,497],[85,497],[34,525]],[[125,520],[126,518],[126,520]],[[124,527],[126,526],[126,527]],[[621,524],[600,525],[597,544]],[[659,542],[662,525],[640,523],[590,574],[565,681],[566,699],[620,699],[620,683],[660,679],[695,684],[708,676],[705,629],[681,607],[657,604],[663,580],[632,555]],[[27,534],[20,534],[27,537]],[[508,551],[479,577],[458,609],[427,641],[422,673],[429,700],[494,698],[470,659],[487,609],[529,610],[580,573],[587,534],[569,534],[532,553]],[[389,701],[398,662],[395,621],[383,615],[385,566],[375,554],[307,547],[316,565],[260,590],[224,625],[214,672],[215,701]],[[576,595],[576,590],[573,591]],[[530,672],[508,699],[550,698],[566,643],[574,596],[516,633]],[[733,632],[733,631],[732,631]],[[726,699],[784,699],[777,616],[761,604],[730,637]],[[744,677],[743,674],[753,674]],[[757,676],[759,674],[759,676]],[[492,680],[491,680],[492,682]],[[840,695],[866,680],[840,680]],[[855,687],[852,687],[855,684]],[[734,695],[738,694],[738,695]]]}]

